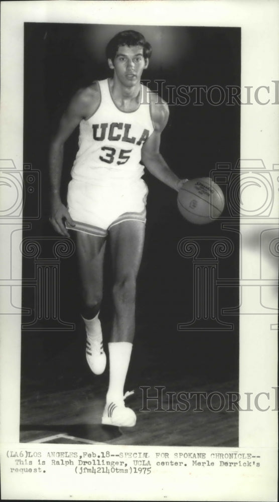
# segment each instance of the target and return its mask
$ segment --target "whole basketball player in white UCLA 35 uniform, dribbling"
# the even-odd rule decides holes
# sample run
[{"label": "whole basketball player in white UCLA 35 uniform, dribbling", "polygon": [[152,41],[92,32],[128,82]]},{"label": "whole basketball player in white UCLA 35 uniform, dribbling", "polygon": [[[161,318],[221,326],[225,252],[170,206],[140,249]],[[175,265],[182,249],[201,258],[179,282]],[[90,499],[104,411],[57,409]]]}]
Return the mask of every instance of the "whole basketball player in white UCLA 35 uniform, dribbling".
[{"label": "whole basketball player in white UCLA 35 uniform, dribbling", "polygon": [[[123,395],[134,336],[136,277],[145,239],[144,166],[179,190],[180,180],[162,158],[160,137],[167,104],[141,84],[151,45],[135,31],[118,33],[107,45],[113,76],[79,90],[64,112],[50,148],[51,217],[55,230],[76,231],[87,341],[86,358],[100,374],[106,365],[99,310],[103,259],[109,241],[114,315],[109,353],[109,386],[102,424],[132,427],[134,412]],[[71,171],[67,208],[60,199],[65,141],[79,125],[79,150]],[[128,393],[129,394],[129,393]]]}]

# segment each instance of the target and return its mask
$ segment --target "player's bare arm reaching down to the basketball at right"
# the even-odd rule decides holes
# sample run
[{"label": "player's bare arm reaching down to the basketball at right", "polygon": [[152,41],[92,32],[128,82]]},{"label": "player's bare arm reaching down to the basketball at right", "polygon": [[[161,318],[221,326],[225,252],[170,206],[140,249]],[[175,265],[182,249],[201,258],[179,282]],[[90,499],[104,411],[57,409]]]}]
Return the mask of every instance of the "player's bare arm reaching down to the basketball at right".
[{"label": "player's bare arm reaching down to the basketball at right", "polygon": [[161,133],[165,129],[169,119],[169,107],[163,100],[158,103],[158,96],[156,94],[151,95],[151,115],[154,123],[154,132],[142,148],[142,161],[149,172],[156,178],[174,188],[174,190],[179,191],[187,180],[180,180],[160,154]]}]

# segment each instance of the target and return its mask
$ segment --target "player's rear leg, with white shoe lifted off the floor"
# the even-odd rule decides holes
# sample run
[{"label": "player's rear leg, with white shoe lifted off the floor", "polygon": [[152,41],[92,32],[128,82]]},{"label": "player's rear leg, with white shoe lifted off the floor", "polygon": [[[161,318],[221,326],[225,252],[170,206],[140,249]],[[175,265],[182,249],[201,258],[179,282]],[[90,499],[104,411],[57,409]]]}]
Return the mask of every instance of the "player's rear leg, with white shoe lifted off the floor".
[{"label": "player's rear leg, with white shoe lifted off the floor", "polygon": [[81,280],[81,316],[86,328],[86,359],[90,369],[100,374],[105,369],[102,330],[99,320],[103,289],[105,238],[76,232],[76,252]]}]

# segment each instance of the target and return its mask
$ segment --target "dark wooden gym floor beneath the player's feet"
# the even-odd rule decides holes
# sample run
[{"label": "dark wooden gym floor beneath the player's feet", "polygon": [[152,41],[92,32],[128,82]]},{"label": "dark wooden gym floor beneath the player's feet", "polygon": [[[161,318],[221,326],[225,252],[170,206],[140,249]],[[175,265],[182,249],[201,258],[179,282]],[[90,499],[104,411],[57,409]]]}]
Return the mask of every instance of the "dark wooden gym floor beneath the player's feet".
[{"label": "dark wooden gym floor beneath the player's feet", "polygon": [[[201,398],[202,412],[194,411],[195,399],[189,401],[191,406],[188,411],[170,411],[166,394],[175,393],[173,404],[176,409],[179,392],[218,392],[226,397],[227,392],[238,392],[236,378],[228,379],[224,372],[218,376],[216,371],[199,371],[199,368],[196,372],[189,372],[187,364],[185,367],[181,364],[181,359],[177,365],[168,367],[168,357],[165,354],[164,359],[163,351],[157,354],[156,360],[152,360],[152,356],[148,359],[145,342],[138,342],[133,350],[125,386],[125,390],[134,390],[134,395],[127,399],[126,404],[135,411],[137,423],[133,428],[101,426],[108,383],[107,369],[99,376],[90,372],[84,361],[82,338],[73,337],[64,349],[55,356],[51,352],[48,357],[46,348],[53,343],[54,338],[48,337],[46,342],[39,335],[30,335],[28,342],[26,339],[23,343],[23,356],[32,350],[36,354],[37,365],[34,363],[31,369],[30,364],[27,367],[23,363],[21,442],[238,446],[236,411],[228,412],[225,406],[222,411],[213,412],[204,398]],[[155,349],[155,345],[150,346],[153,356]],[[30,361],[30,357],[28,359]],[[208,367],[211,367],[210,363]],[[150,411],[139,411],[144,407],[144,391],[140,386],[151,387],[148,392],[153,396],[157,393],[155,387],[165,387],[162,394],[165,411],[156,411],[156,401],[148,402]],[[218,396],[212,399],[211,404],[213,408],[218,408]]]}]

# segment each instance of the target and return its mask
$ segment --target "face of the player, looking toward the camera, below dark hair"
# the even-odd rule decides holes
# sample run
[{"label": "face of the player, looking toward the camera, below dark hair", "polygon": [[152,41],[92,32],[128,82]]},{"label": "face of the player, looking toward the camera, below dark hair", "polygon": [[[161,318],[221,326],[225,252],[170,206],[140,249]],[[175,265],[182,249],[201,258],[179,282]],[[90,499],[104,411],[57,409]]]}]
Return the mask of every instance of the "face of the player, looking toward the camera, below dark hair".
[{"label": "face of the player, looking toward the camera, below dark hair", "polygon": [[122,85],[131,87],[141,79],[142,73],[148,67],[143,47],[123,45],[116,52],[113,62],[108,60],[108,66],[114,70],[114,76]]}]

